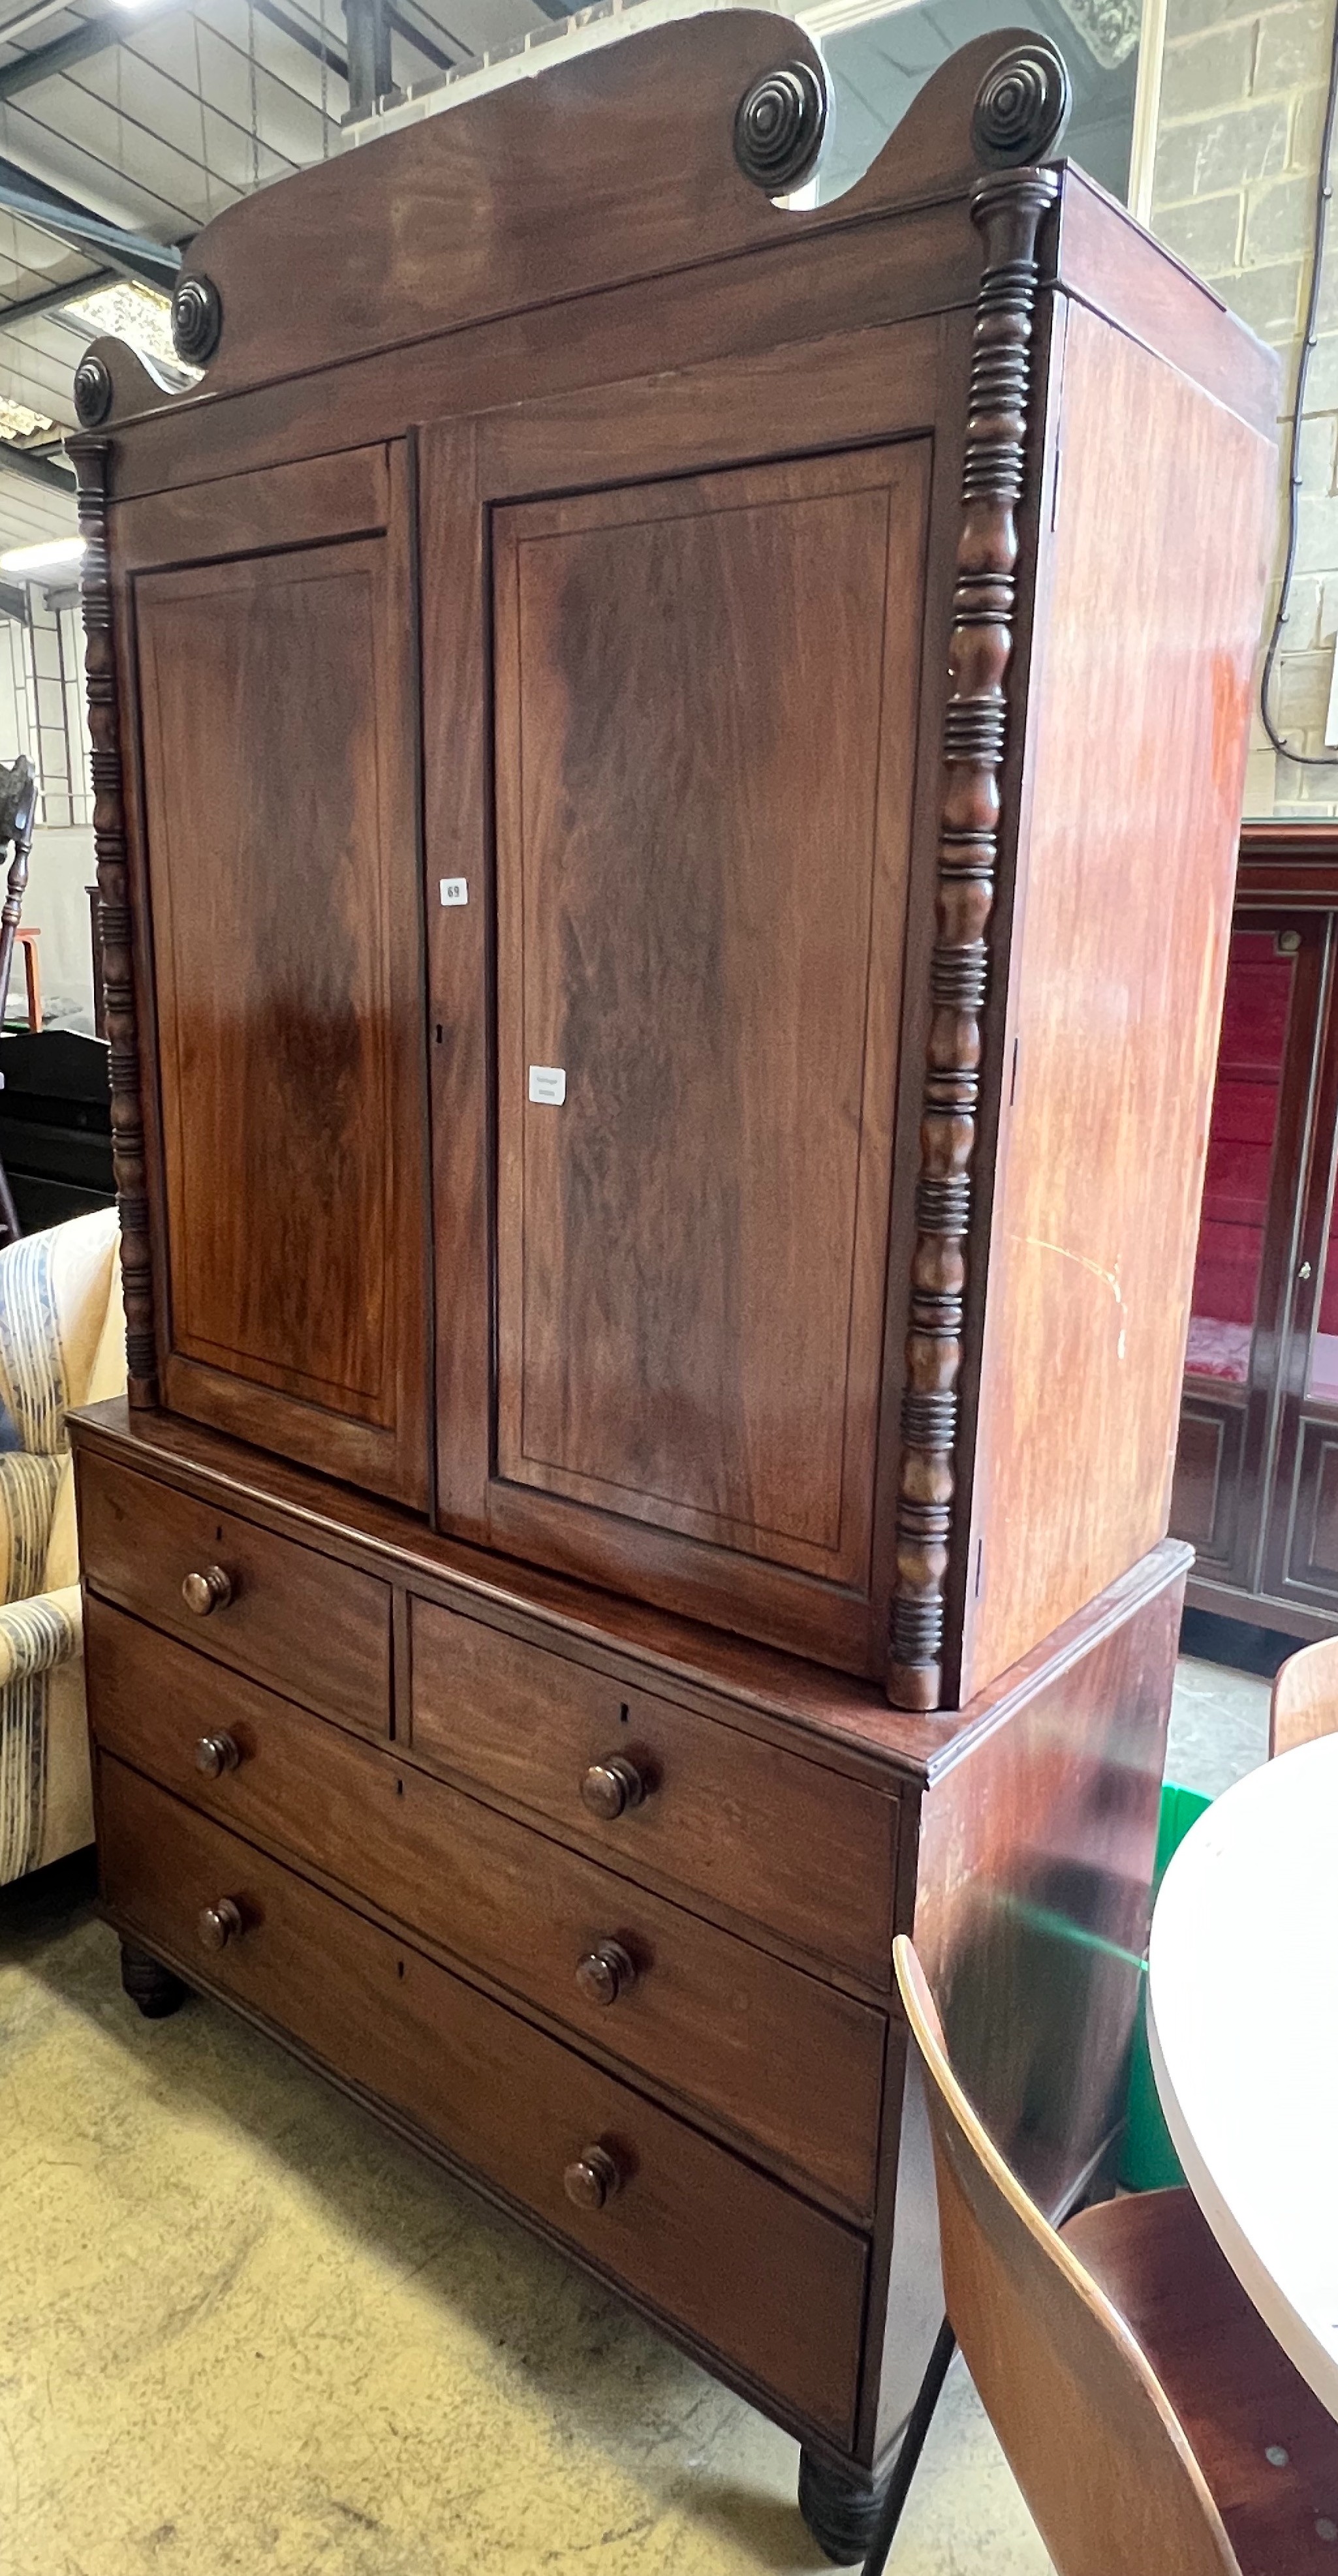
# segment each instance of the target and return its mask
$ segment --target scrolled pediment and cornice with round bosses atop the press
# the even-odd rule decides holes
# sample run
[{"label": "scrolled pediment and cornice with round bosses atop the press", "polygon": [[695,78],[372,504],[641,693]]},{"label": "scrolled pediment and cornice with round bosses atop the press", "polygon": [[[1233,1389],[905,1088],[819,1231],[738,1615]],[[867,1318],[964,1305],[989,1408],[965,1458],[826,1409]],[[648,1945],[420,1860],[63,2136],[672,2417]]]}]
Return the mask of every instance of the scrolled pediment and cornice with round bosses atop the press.
[{"label": "scrolled pediment and cornice with round bosses atop the press", "polygon": [[[874,219],[918,222],[923,240],[897,265],[926,273],[933,307],[969,301],[980,255],[964,201],[990,170],[1054,157],[1067,72],[1034,33],[980,36],[926,82],[846,196],[797,206],[825,118],[825,70],[802,28],[735,8],[467,98],[206,224],[173,296],[173,337],[201,381],[173,389],[124,343],[98,340],[75,376],[80,422],[101,433],[199,415],[227,394]],[[1274,425],[1274,353],[1072,167],[1042,265]]]}]

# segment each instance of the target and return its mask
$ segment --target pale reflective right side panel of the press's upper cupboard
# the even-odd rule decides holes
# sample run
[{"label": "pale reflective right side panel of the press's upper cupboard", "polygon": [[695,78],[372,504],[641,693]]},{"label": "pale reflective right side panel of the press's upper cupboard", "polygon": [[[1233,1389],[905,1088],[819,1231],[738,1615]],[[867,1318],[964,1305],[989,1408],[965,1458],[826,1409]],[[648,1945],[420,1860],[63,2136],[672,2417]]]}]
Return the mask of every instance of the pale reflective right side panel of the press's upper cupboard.
[{"label": "pale reflective right side panel of the press's upper cupboard", "polygon": [[1274,448],[1067,309],[962,1700],[1165,1535]]}]

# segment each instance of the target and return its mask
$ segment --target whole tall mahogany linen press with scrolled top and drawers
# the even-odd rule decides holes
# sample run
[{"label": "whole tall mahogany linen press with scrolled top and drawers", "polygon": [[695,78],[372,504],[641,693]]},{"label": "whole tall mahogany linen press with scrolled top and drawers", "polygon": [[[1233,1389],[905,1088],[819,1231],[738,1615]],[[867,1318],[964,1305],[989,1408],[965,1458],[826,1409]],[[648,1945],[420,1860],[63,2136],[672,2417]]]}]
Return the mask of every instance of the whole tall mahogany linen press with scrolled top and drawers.
[{"label": "whole tall mahogany linen press with scrolled top and drawers", "polygon": [[1101,2172],[1276,366],[985,36],[784,18],[229,206],[77,371],[129,1401],[101,1888],[802,2442],[938,2321],[892,1937]]}]

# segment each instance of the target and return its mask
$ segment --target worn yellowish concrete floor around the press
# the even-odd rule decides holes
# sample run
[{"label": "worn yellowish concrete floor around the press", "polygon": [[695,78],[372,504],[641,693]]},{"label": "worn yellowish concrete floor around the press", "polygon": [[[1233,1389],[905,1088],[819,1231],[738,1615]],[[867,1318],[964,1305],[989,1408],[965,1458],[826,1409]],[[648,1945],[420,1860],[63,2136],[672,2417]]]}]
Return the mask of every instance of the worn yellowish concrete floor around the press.
[{"label": "worn yellowish concrete floor around the press", "polygon": [[[1173,1777],[1266,1708],[1181,1669]],[[227,2012],[142,2022],[77,1865],[0,1893],[0,2576],[822,2566],[794,2442]],[[1047,2566],[956,2365],[895,2576]]]}]

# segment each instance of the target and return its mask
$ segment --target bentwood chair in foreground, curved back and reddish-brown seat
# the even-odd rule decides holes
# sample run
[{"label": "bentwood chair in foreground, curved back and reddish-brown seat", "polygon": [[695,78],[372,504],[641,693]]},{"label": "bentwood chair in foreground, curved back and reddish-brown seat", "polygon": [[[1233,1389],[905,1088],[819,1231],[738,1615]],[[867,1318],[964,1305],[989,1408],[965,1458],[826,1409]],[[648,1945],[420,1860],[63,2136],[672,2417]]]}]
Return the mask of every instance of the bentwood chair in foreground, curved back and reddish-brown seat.
[{"label": "bentwood chair in foreground, curved back and reddish-brown seat", "polygon": [[967,2102],[907,1940],[897,1984],[949,2318],[1057,2576],[1333,2576],[1338,2424],[1194,2197],[1109,2200],[1054,2233]]}]

